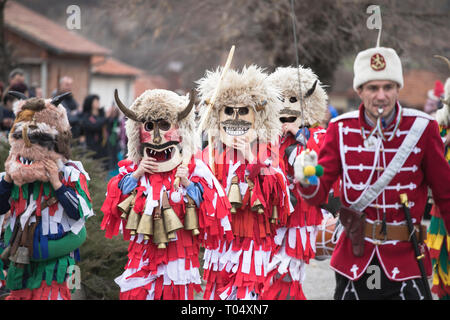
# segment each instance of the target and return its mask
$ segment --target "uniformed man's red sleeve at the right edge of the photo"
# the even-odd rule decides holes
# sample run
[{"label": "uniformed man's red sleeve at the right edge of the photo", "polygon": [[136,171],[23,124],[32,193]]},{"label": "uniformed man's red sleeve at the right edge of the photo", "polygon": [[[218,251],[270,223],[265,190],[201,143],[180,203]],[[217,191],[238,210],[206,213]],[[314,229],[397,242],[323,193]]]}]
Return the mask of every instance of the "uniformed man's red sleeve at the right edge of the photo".
[{"label": "uniformed man's red sleeve at the right edge of the photo", "polygon": [[423,138],[426,141],[426,148],[424,148],[422,170],[448,232],[450,230],[450,166],[444,158],[444,144],[436,121],[430,121]]}]

